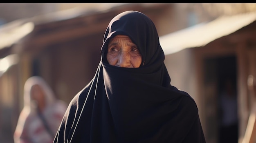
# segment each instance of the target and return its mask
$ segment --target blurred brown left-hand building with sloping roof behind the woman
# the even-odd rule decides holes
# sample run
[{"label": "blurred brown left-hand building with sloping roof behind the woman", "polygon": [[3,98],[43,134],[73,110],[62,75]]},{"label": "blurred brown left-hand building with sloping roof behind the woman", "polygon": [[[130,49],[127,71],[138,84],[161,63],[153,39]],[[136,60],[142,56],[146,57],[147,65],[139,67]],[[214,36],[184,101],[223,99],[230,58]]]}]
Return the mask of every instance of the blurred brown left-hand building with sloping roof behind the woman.
[{"label": "blurred brown left-hand building with sloping roof behind the woman", "polygon": [[158,21],[167,19],[172,7],[172,4],[119,4],[108,9],[74,8],[21,18],[2,25],[1,143],[13,141],[27,78],[40,75],[59,99],[69,103],[94,76],[103,35],[115,15],[131,9],[141,11],[152,18],[157,27],[161,27],[165,23]]}]

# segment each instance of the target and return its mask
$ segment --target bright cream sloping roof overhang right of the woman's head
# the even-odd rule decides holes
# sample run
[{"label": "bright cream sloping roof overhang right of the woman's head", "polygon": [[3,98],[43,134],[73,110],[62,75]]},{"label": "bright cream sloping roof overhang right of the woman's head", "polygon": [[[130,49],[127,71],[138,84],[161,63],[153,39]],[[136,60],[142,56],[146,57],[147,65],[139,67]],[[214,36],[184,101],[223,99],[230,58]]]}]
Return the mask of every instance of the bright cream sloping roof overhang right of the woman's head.
[{"label": "bright cream sloping roof overhang right of the woman's head", "polygon": [[249,25],[256,20],[256,13],[223,16],[208,23],[201,23],[159,37],[165,55],[185,48],[200,47]]}]

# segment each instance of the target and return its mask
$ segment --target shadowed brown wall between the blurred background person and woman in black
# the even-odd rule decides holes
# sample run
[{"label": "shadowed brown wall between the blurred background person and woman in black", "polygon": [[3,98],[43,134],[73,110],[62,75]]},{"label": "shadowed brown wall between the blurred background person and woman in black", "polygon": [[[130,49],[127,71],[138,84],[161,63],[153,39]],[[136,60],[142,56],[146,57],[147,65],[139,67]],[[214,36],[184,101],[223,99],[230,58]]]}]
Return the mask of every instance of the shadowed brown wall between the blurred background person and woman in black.
[{"label": "shadowed brown wall between the blurred background person and woman in black", "polygon": [[100,61],[99,36],[102,37],[102,33],[63,43],[58,46],[61,49],[49,51],[52,55],[52,87],[57,97],[66,103],[94,77]]}]

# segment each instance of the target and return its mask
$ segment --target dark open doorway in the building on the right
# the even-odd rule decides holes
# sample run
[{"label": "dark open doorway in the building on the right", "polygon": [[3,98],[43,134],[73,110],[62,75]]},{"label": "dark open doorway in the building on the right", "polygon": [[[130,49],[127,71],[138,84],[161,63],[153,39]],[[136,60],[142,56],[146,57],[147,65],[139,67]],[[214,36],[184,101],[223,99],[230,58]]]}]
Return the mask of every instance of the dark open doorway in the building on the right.
[{"label": "dark open doorway in the building on the right", "polygon": [[238,142],[236,66],[234,55],[204,59],[203,88],[209,142]]}]

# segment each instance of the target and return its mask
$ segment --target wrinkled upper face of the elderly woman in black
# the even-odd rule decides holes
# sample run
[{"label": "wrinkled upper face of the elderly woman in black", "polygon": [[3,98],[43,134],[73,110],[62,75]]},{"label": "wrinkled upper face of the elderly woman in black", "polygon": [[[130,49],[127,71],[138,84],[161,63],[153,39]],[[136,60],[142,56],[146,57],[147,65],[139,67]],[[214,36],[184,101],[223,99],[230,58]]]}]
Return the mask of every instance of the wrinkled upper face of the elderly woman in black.
[{"label": "wrinkled upper face of the elderly woman in black", "polygon": [[139,68],[142,57],[137,45],[126,35],[117,35],[108,43],[108,63],[123,68]]}]

